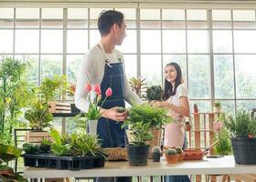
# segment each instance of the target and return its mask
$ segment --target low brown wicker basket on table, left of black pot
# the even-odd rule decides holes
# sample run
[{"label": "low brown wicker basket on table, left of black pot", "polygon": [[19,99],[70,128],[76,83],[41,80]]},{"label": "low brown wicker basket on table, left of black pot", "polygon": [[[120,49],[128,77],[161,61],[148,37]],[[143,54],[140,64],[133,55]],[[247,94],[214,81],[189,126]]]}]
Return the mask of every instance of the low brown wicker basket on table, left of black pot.
[{"label": "low brown wicker basket on table, left of black pot", "polygon": [[107,154],[108,160],[128,160],[127,148],[125,147],[103,148],[103,150]]}]

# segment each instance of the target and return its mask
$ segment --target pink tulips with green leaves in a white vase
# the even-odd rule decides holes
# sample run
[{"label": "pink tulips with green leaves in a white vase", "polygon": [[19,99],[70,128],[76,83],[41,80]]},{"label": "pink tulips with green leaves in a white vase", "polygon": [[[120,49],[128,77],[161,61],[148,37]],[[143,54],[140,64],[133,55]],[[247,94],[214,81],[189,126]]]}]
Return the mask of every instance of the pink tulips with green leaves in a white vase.
[{"label": "pink tulips with green leaves in a white vase", "polygon": [[[89,108],[87,113],[85,113],[85,116],[87,117],[87,122],[89,126],[89,133],[91,135],[97,134],[97,124],[98,119],[101,117],[101,106],[103,106],[104,102],[109,96],[112,96],[112,88],[109,87],[105,94],[104,100],[101,101],[101,86],[99,84],[96,84],[92,86],[90,84],[87,84],[85,86],[85,89],[88,92],[87,100],[89,100]],[[100,106],[99,106],[100,105]]]}]

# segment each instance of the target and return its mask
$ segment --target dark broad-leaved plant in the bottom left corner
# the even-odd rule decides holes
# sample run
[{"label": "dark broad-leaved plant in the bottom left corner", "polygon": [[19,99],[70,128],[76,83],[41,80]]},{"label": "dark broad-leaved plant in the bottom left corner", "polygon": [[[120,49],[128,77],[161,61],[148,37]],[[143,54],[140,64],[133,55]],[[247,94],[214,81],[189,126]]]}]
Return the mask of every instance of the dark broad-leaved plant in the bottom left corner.
[{"label": "dark broad-leaved plant in the bottom left corner", "polygon": [[9,161],[20,155],[20,149],[0,144],[0,181],[27,182],[27,179],[15,173],[12,167],[7,166]]}]

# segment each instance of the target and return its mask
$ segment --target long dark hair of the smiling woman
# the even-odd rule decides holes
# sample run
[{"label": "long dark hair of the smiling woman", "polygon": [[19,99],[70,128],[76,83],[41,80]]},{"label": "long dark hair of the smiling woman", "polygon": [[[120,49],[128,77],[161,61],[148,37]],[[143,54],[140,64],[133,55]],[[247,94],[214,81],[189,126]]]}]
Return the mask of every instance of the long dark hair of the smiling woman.
[{"label": "long dark hair of the smiling woman", "polygon": [[175,62],[168,63],[167,66],[174,66],[176,69],[176,80],[175,80],[175,87],[173,88],[172,84],[168,82],[165,79],[165,91],[164,91],[164,96],[163,99],[167,100],[170,96],[175,96],[176,95],[176,88],[182,83],[182,73],[181,73],[181,68],[179,65],[177,65]]}]

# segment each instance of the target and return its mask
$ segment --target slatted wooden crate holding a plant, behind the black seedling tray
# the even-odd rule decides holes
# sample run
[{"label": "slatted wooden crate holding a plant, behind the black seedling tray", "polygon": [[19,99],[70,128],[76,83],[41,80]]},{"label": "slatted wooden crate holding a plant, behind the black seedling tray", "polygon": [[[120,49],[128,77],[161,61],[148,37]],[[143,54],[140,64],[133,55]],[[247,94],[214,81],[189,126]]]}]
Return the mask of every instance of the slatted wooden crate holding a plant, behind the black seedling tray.
[{"label": "slatted wooden crate holding a plant, behind the black seedling tray", "polygon": [[39,144],[44,138],[49,138],[48,131],[28,131],[26,133],[27,143]]}]

